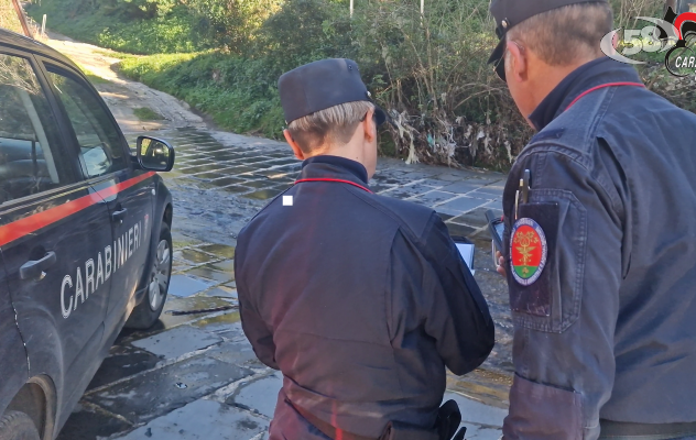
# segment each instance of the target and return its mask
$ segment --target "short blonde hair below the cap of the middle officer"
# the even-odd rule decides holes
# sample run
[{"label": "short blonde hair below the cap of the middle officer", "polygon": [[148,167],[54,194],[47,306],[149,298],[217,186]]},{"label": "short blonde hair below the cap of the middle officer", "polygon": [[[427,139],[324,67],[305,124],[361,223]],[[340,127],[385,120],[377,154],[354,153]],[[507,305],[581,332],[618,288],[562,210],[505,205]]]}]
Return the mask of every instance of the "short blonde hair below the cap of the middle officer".
[{"label": "short blonde hair below the cap of the middle officer", "polygon": [[374,109],[369,101],[345,102],[309,113],[287,125],[292,138],[307,153],[326,144],[346,144],[365,116]]}]

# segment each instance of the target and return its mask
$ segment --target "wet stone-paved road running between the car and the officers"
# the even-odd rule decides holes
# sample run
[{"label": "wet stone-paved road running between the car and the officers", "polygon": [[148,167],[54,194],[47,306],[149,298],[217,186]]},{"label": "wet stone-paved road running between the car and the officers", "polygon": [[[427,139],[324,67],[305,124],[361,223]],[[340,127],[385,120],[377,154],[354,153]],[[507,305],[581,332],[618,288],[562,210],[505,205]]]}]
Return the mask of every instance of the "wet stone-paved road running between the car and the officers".
[{"label": "wet stone-paved road running between the car and the officers", "polygon": [[[176,150],[175,168],[162,174],[174,199],[165,311],[149,331],[122,332],[58,439],[264,439],[281,375],[255,359],[241,330],[235,245],[246,222],[292,185],[300,162],[284,143],[206,129],[174,98],[110,77],[117,55],[81,43],[56,44],[111,81],[97,88],[132,144],[150,134]],[[151,105],[165,120],[139,123],[131,100]],[[494,272],[483,217],[488,209],[502,213],[504,179],[380,158],[370,182],[380,195],[434,208],[453,235],[477,246],[474,268],[496,321],[497,344],[480,369],[448,377],[446,398],[459,403],[467,439],[500,437],[512,377],[507,286]]]}]

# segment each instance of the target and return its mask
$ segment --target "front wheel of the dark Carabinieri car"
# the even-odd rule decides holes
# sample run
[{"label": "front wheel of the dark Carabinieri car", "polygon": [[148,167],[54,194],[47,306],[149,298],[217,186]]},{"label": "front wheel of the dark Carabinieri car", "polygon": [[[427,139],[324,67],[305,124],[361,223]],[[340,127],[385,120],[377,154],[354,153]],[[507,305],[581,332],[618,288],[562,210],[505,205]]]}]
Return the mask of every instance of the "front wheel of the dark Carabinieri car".
[{"label": "front wheel of the dark Carabinieri car", "polygon": [[[170,227],[162,222],[160,240],[145,280],[145,296],[135,306],[130,318],[126,322],[129,329],[145,330],[154,326],[162,315],[166,293],[172,277],[172,233]],[[0,439],[2,440],[2,439]]]}]

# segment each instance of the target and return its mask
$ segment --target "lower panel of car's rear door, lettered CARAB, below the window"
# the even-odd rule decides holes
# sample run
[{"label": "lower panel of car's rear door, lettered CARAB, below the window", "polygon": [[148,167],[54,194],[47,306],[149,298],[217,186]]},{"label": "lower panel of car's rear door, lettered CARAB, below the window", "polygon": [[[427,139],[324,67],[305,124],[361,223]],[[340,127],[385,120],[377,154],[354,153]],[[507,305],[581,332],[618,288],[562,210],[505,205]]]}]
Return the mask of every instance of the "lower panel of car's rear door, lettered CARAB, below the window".
[{"label": "lower panel of car's rear door, lettered CARAB, below the window", "polygon": [[[86,183],[66,189],[6,211],[4,226],[42,221],[36,212],[52,212],[68,201],[88,200],[90,205],[65,218],[56,213],[57,219],[39,233],[3,244],[2,254],[30,376],[50,376],[61,400],[74,403],[101,363],[95,353],[102,346],[115,255],[104,200]],[[45,276],[21,279],[20,267],[47,252],[55,252],[57,263]],[[58,414],[62,407],[58,402]]]}]

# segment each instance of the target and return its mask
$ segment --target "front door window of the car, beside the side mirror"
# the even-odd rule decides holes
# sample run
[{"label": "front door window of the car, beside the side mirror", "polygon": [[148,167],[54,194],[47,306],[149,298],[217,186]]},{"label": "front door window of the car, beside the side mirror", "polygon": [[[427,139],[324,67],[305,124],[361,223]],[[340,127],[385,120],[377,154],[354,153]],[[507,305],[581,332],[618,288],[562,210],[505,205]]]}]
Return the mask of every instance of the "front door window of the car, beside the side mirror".
[{"label": "front door window of the car, beside the side mirror", "polygon": [[47,66],[48,77],[65,107],[87,177],[98,177],[128,167],[118,128],[107,110],[81,80]]}]

